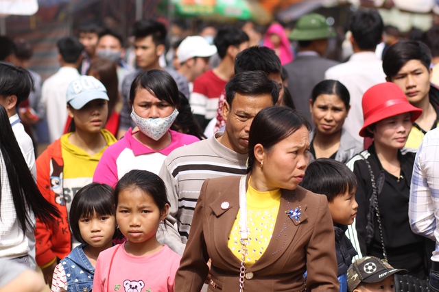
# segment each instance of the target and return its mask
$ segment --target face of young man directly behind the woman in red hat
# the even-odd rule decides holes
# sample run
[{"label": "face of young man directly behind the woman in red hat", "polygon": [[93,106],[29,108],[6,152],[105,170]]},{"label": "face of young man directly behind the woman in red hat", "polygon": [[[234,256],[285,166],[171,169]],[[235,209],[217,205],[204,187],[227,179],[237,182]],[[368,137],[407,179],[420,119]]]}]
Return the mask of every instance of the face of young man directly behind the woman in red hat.
[{"label": "face of young man directly behind the woman in red hat", "polygon": [[403,90],[407,100],[415,106],[423,101],[423,98],[428,98],[430,81],[431,69],[425,68],[418,59],[411,59],[405,63],[392,77],[392,82]]}]

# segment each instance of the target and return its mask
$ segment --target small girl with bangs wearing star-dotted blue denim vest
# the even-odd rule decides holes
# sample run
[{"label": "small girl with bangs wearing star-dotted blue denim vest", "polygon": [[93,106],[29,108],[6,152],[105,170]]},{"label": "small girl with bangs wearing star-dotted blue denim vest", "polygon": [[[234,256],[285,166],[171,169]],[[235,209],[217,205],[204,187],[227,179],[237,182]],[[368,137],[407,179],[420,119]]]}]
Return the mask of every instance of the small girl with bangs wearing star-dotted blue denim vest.
[{"label": "small girl with bangs wearing star-dotted blue denim vest", "polygon": [[97,256],[112,247],[116,217],[112,204],[113,189],[109,185],[91,183],[73,198],[70,227],[82,243],[56,266],[52,292],[91,291]]}]

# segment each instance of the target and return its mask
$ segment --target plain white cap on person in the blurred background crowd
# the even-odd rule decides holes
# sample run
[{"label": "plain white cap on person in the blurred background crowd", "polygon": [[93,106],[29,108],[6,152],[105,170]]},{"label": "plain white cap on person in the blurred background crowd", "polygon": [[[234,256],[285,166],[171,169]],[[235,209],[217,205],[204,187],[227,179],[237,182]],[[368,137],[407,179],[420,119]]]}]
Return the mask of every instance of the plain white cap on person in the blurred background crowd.
[{"label": "plain white cap on person in the blurred background crowd", "polygon": [[217,53],[217,47],[209,44],[202,36],[188,36],[178,46],[177,57],[186,62],[192,57],[211,57]]}]

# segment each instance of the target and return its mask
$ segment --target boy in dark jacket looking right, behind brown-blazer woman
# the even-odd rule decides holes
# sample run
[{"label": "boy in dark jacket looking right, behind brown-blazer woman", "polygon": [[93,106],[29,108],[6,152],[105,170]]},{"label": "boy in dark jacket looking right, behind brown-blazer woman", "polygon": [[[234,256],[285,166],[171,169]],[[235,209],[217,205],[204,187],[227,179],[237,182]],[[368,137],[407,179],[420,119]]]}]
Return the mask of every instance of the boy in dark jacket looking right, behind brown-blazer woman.
[{"label": "boy in dark jacket looking right, behind brown-blazer woman", "polygon": [[340,292],[346,292],[346,271],[357,252],[344,234],[347,226],[353,224],[358,204],[355,201],[357,178],[349,168],[334,159],[320,158],[309,164],[303,177],[302,187],[316,194],[328,197],[329,211],[334,223],[335,252],[337,254],[337,277]]}]

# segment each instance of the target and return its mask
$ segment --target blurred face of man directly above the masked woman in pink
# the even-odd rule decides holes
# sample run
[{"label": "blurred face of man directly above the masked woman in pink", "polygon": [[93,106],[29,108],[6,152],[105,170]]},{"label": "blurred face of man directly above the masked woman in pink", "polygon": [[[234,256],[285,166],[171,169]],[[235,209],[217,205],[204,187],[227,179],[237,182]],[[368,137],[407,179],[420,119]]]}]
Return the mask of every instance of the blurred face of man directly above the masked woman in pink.
[{"label": "blurred face of man directly above the masked woman in pink", "polygon": [[137,65],[143,70],[154,69],[151,67],[157,64],[163,49],[163,44],[158,46],[154,44],[152,36],[136,38],[134,41],[134,53],[136,54]]}]

